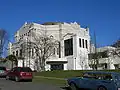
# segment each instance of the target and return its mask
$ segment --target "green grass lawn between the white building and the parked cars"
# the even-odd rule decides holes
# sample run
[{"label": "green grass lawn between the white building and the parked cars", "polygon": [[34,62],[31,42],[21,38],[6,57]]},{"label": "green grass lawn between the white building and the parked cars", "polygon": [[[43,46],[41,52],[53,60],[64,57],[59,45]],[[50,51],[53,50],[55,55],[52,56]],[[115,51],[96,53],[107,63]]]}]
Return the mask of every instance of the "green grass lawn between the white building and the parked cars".
[{"label": "green grass lawn between the white building and the parked cars", "polygon": [[[120,70],[104,70],[120,72]],[[65,78],[81,76],[86,70],[67,70],[67,71],[46,71],[34,73],[33,82],[48,83],[63,86],[66,83]]]}]

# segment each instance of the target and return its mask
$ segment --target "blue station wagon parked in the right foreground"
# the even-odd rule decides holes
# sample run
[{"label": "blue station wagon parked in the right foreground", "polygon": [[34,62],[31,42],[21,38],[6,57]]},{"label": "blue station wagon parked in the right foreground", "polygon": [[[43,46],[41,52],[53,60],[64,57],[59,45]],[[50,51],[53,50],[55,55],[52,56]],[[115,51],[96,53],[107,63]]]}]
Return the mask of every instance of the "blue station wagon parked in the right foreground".
[{"label": "blue station wagon parked in the right foreground", "polygon": [[82,77],[67,79],[71,90],[79,88],[89,90],[120,90],[120,74],[116,72],[91,71],[83,73]]}]

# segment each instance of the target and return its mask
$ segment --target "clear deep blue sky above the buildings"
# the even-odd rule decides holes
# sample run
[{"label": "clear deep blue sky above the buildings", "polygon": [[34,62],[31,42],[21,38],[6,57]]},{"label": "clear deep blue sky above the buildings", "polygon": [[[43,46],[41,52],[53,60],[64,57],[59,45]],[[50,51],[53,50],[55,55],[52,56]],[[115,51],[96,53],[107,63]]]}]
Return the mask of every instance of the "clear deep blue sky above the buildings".
[{"label": "clear deep blue sky above the buildings", "polygon": [[120,0],[0,0],[0,28],[9,39],[24,22],[78,22],[96,32],[98,46],[120,38]]}]

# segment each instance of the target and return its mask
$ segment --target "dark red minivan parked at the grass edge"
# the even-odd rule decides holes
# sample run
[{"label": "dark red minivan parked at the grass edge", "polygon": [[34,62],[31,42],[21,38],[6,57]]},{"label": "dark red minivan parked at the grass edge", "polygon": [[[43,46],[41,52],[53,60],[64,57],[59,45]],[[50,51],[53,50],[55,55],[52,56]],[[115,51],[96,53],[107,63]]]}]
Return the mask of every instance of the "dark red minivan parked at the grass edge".
[{"label": "dark red minivan parked at the grass edge", "polygon": [[20,80],[32,81],[32,70],[29,67],[14,67],[7,73],[6,80],[8,79],[13,79],[16,82]]}]

